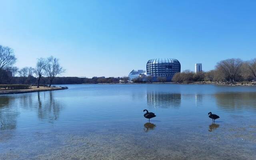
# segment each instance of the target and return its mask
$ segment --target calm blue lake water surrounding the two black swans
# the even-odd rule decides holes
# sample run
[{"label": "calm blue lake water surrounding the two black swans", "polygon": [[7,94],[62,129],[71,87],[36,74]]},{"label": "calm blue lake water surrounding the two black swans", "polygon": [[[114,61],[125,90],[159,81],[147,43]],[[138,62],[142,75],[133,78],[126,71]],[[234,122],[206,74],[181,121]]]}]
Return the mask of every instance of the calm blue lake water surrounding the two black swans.
[{"label": "calm blue lake water surrounding the two black swans", "polygon": [[67,86],[0,95],[0,160],[256,160],[256,87]]}]

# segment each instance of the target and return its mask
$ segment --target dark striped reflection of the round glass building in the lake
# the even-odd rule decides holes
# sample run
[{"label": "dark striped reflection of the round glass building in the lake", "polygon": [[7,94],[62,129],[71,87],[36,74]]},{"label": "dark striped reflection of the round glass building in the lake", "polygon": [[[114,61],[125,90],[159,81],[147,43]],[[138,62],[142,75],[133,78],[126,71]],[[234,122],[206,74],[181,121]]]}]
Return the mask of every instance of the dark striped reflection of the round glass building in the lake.
[{"label": "dark striped reflection of the round glass building in the lake", "polygon": [[147,103],[148,103],[148,106],[154,106],[154,107],[179,108],[181,103],[181,94],[180,93],[148,92]]}]

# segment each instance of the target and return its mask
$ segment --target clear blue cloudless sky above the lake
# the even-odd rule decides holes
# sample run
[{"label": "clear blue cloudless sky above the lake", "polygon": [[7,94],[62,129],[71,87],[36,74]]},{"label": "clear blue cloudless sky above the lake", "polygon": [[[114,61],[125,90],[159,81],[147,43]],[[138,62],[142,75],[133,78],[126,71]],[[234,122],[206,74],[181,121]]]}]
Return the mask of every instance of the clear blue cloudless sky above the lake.
[{"label": "clear blue cloudless sky above the lake", "polygon": [[61,76],[127,76],[152,58],[175,58],[182,70],[214,69],[228,58],[256,57],[254,0],[5,0],[0,44],[17,67],[53,55]]}]

